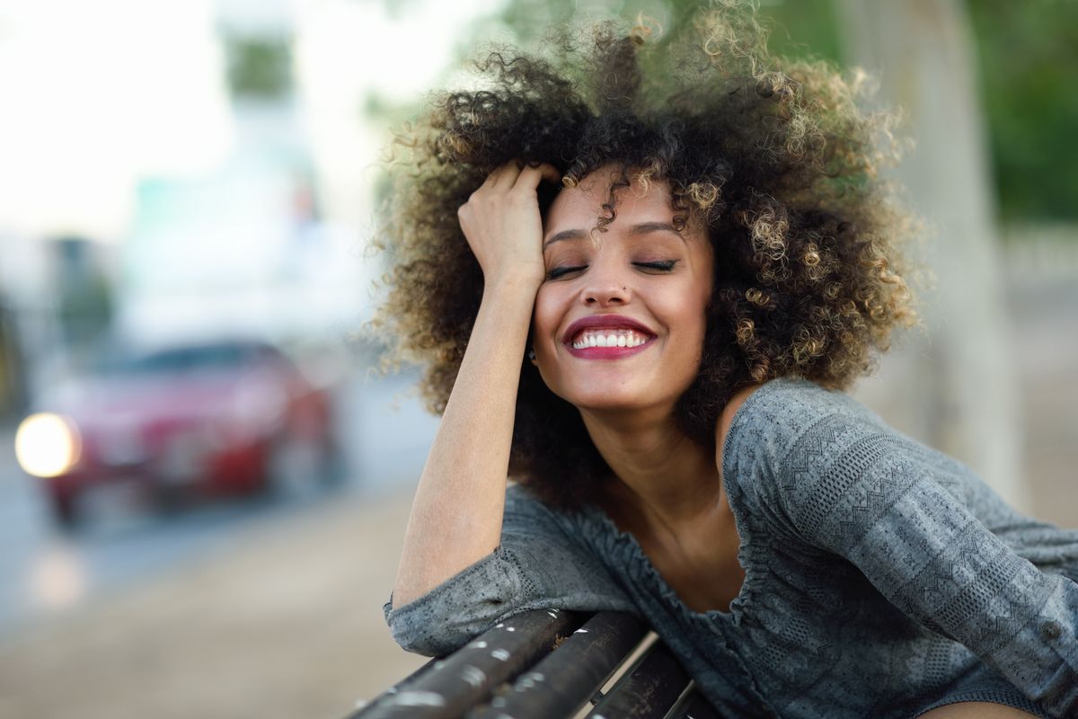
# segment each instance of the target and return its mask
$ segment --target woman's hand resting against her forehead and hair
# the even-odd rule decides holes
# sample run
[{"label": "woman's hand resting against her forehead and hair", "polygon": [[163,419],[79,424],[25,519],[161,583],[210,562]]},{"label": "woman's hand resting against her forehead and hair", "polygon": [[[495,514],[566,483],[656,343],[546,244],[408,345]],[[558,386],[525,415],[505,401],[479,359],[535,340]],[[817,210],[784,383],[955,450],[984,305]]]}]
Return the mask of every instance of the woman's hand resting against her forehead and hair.
[{"label": "woman's hand resting against her forehead and hair", "polygon": [[542,219],[536,188],[561,175],[548,163],[521,167],[510,161],[487,176],[457,210],[460,229],[483,268],[487,286],[502,281],[534,282],[545,277]]}]

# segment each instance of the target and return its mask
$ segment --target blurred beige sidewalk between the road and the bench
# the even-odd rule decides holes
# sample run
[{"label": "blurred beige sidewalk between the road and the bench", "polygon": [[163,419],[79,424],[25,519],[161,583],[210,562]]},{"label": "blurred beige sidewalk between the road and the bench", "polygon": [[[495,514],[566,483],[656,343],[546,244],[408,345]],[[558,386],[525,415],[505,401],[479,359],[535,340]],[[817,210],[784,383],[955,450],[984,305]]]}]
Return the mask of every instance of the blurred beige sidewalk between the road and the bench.
[{"label": "blurred beige sidewalk between the road and the bench", "polygon": [[345,716],[425,660],[382,618],[410,493],[344,498],[29,630],[0,649],[0,717]]}]

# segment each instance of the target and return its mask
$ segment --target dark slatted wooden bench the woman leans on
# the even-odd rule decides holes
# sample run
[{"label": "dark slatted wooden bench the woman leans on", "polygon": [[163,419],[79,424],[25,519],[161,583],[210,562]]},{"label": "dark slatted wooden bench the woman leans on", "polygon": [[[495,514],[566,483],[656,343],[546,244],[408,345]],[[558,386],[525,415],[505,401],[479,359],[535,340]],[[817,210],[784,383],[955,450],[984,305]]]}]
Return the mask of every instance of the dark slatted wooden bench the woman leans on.
[{"label": "dark slatted wooden bench the woman leans on", "polygon": [[555,609],[506,620],[347,719],[384,717],[718,719],[641,620]]}]

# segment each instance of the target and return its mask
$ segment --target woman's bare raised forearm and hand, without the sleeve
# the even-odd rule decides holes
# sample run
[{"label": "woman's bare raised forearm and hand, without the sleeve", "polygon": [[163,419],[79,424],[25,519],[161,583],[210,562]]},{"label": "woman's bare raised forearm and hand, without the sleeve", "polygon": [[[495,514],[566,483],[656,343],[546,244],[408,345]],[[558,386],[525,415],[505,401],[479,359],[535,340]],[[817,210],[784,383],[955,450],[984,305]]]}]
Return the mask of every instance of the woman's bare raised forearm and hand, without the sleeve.
[{"label": "woman's bare raised forearm and hand, without the sleeve", "polygon": [[551,165],[494,170],[458,217],[483,268],[483,299],[416,490],[393,604],[490,554],[501,535],[521,359],[543,281],[536,188]]}]

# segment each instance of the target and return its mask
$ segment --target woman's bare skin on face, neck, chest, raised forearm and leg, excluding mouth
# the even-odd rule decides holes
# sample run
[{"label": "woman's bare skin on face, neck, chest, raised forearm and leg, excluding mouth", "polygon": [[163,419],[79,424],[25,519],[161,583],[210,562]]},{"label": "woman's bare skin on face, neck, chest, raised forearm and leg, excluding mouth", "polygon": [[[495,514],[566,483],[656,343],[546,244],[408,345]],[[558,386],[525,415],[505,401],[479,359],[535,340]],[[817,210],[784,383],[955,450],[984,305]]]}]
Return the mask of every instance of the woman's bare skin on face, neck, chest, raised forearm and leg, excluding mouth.
[{"label": "woman's bare skin on face, neck, chest, raised forearm and leg, excluding mouth", "polygon": [[[550,165],[509,163],[460,207],[465,237],[479,260],[484,292],[452,396],[420,476],[393,586],[403,606],[494,551],[500,540],[520,358],[529,321],[536,363],[552,391],[576,405],[616,480],[604,509],[632,533],[687,606],[727,610],[744,582],[737,529],[722,482],[722,446],[738,391],[716,428],[718,450],[701,447],[674,423],[677,398],[700,367],[711,248],[703,230],[673,224],[669,189],[626,189],[617,217],[593,241],[609,170],[564,190],[543,227],[536,188],[557,181]],[[550,241],[565,231],[572,237]],[[650,263],[673,264],[659,269]],[[566,267],[572,268],[564,272]],[[552,276],[556,275],[556,276]],[[621,314],[650,342],[617,359],[568,350],[569,326],[590,315]],[[995,704],[959,703],[926,715],[1028,717]]]}]

